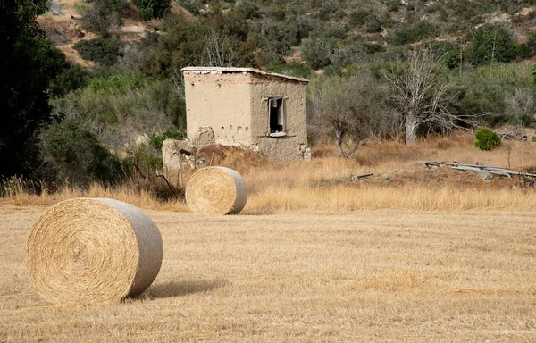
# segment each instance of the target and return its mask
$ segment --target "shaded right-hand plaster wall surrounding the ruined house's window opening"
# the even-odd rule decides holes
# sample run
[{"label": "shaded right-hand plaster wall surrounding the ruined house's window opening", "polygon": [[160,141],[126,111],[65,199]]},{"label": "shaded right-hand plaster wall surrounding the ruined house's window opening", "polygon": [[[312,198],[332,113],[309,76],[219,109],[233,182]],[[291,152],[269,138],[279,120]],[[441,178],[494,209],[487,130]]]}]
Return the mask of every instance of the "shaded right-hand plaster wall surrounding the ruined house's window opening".
[{"label": "shaded right-hand plaster wall surrounding the ruined house's window opening", "polygon": [[[255,75],[251,84],[252,143],[274,161],[297,161],[304,158],[307,146],[305,82],[288,81]],[[268,101],[271,96],[284,96],[285,132],[283,137],[270,137]]]}]

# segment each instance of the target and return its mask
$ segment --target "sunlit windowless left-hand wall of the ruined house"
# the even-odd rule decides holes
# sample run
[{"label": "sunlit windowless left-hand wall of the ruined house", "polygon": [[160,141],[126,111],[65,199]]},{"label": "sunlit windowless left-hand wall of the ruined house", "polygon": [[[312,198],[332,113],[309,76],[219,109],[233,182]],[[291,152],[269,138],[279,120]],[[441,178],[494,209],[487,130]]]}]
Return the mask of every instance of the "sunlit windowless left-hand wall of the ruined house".
[{"label": "sunlit windowless left-hand wall of the ruined house", "polygon": [[184,71],[187,134],[200,127],[214,130],[214,143],[251,146],[252,122],[248,73]]}]

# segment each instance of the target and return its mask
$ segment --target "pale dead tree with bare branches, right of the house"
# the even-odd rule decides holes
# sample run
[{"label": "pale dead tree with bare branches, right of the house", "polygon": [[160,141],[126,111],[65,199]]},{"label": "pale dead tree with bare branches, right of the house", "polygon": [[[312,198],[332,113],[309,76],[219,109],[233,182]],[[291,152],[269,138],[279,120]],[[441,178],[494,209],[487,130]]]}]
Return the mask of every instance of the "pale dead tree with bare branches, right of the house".
[{"label": "pale dead tree with bare branches, right of the house", "polygon": [[448,111],[456,96],[455,86],[442,77],[441,60],[431,49],[421,48],[408,63],[391,63],[391,71],[383,71],[391,86],[390,96],[402,114],[406,144],[416,142],[419,130],[446,133],[459,127],[459,118]]}]

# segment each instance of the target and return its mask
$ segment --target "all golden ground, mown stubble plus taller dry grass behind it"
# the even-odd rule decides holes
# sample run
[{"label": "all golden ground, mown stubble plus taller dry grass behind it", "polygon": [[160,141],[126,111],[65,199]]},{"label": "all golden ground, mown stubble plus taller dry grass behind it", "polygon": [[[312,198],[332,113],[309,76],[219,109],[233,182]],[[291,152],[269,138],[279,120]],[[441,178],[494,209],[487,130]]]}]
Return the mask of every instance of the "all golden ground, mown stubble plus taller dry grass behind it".
[{"label": "all golden ground, mown stubble plus taller dry grass behind it", "polygon": [[[218,164],[249,188],[244,211],[228,217],[128,187],[32,196],[14,182],[0,199],[0,341],[536,341],[533,186],[416,163],[526,168],[535,144],[480,152],[460,135],[364,146],[349,160],[321,147],[289,165],[225,152]],[[28,230],[69,197],[113,197],[153,218],[163,266],[145,294],[79,308],[37,295]]]}]

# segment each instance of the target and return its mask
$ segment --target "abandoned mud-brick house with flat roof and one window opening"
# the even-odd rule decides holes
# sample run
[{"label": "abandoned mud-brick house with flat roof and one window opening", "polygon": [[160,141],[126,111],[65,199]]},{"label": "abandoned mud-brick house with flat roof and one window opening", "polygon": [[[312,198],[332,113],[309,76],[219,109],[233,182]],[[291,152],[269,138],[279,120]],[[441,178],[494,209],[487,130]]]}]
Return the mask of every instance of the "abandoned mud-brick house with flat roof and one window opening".
[{"label": "abandoned mud-brick house with flat roof and one window opening", "polygon": [[[307,80],[250,68],[182,69],[188,140],[297,161],[307,145]],[[211,141],[213,140],[213,141]]]}]

